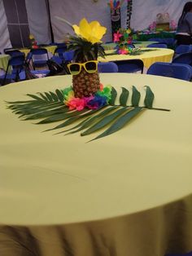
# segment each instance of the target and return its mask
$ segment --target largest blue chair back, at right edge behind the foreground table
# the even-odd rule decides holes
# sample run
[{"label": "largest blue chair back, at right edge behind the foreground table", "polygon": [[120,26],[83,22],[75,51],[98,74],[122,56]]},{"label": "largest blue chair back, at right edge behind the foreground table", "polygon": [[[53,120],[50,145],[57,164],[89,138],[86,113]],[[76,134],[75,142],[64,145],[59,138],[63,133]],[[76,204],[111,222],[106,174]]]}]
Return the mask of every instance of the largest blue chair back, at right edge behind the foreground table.
[{"label": "largest blue chair back, at right edge behind the foreground table", "polygon": [[188,64],[155,62],[147,70],[147,74],[190,81],[192,67]]}]

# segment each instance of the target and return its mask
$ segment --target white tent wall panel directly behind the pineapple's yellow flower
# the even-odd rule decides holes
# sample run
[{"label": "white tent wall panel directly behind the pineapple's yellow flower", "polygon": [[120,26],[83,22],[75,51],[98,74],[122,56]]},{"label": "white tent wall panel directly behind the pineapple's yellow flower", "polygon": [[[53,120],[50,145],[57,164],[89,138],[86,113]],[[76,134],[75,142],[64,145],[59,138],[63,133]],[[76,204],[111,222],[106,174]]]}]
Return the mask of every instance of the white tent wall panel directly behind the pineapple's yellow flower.
[{"label": "white tent wall panel directly behind the pineapple's yellow flower", "polygon": [[68,24],[57,20],[55,16],[62,17],[72,24],[79,24],[79,21],[84,17],[88,21],[98,20],[107,27],[107,34],[103,40],[111,41],[111,16],[106,1],[50,0],[50,15],[56,42],[62,42],[67,33],[72,33],[72,29]]}]

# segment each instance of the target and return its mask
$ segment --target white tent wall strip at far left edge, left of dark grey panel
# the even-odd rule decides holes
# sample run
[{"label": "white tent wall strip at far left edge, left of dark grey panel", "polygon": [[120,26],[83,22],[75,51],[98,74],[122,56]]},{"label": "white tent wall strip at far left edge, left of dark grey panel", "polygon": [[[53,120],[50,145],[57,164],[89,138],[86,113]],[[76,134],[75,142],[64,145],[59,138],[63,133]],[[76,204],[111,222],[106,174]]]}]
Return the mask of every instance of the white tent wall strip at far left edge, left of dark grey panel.
[{"label": "white tent wall strip at far left edge, left of dark grey panel", "polygon": [[2,0],[0,0],[0,51],[3,53],[5,48],[11,47],[9,31],[7,29],[7,16]]}]

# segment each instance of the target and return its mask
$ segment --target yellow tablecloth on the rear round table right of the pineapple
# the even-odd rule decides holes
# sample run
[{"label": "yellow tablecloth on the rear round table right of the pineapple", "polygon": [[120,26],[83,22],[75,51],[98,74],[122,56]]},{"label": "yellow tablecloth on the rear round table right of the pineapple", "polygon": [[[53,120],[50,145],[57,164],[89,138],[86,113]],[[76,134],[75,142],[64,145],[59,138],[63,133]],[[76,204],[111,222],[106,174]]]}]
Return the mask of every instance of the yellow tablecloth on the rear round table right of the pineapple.
[{"label": "yellow tablecloth on the rear round table right of the pineapple", "polygon": [[149,68],[151,64],[154,64],[157,61],[162,62],[171,62],[174,51],[171,49],[164,48],[143,48],[151,49],[155,51],[146,51],[141,55],[107,55],[105,59],[99,57],[99,61],[115,61],[115,60],[132,60],[140,59],[143,61],[144,66]]}]

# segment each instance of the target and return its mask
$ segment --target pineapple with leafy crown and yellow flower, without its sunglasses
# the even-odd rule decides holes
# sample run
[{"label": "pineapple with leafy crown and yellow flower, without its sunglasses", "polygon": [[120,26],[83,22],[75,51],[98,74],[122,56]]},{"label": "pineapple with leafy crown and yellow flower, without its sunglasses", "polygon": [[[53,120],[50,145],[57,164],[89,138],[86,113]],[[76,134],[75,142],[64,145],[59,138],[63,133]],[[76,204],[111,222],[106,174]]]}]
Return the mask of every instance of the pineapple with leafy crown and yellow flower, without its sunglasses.
[{"label": "pineapple with leafy crown and yellow flower, without its sunglasses", "polygon": [[[83,19],[80,26],[72,26],[76,36],[70,37],[68,50],[74,51],[74,62],[85,63],[89,60],[98,60],[98,55],[105,55],[100,39],[106,28],[100,26],[98,21],[90,24]],[[77,98],[89,97],[99,90],[100,82],[98,72],[87,73],[81,68],[81,73],[72,76],[72,88]]]}]

